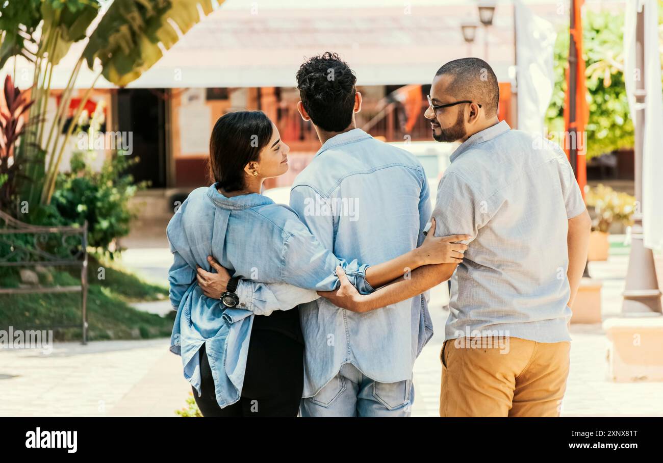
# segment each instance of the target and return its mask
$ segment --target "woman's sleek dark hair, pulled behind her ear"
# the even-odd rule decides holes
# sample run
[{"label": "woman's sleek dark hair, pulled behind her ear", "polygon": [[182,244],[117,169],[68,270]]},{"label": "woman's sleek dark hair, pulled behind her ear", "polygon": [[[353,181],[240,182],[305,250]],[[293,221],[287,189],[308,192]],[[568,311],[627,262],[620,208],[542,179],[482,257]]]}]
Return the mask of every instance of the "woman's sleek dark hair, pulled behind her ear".
[{"label": "woman's sleek dark hair, pulled behind her ear", "polygon": [[272,138],[272,121],[263,111],[233,111],[211,130],[210,177],[225,191],[246,187],[244,167],[258,161]]}]

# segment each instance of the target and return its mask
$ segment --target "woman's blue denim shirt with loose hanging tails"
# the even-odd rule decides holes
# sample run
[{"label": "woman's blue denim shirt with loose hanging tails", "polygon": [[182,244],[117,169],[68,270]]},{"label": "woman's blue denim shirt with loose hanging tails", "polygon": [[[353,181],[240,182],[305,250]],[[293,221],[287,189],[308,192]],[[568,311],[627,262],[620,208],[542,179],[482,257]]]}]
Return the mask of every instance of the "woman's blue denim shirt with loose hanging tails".
[{"label": "woman's blue denim shirt with loose hanging tails", "polygon": [[[206,297],[196,281],[196,265],[210,271],[208,255],[234,277],[294,285],[288,293],[300,295],[298,303],[315,300],[316,291],[335,289],[337,265],[361,293],[373,291],[365,279],[368,265],[337,259],[292,209],[261,194],[226,198],[215,185],[197,188],[178,208],[167,233],[174,257],[168,273],[170,302],[177,310],[170,350],[182,356],[184,377],[200,395],[198,350],[205,343],[221,407],[241,396],[253,317],[271,311],[246,310],[241,304],[225,308]],[[253,294],[253,300],[260,294]]]}]

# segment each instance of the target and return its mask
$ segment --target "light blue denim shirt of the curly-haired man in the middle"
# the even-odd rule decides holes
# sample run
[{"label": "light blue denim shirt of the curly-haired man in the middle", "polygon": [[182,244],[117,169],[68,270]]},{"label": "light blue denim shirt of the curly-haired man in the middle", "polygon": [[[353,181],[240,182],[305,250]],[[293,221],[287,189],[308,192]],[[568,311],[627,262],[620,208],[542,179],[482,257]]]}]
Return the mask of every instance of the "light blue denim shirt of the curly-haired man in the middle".
[{"label": "light blue denim shirt of the curly-haired man in the middle", "polygon": [[[420,245],[431,214],[421,163],[361,129],[322,145],[295,179],[290,206],[327,249],[367,264]],[[296,296],[278,285],[241,285],[240,300],[251,310],[288,307]],[[261,297],[252,300],[253,291]],[[302,304],[304,397],[316,395],[347,363],[381,383],[412,379],[414,360],[433,333],[427,300],[428,293],[367,313],[324,298]]]}]

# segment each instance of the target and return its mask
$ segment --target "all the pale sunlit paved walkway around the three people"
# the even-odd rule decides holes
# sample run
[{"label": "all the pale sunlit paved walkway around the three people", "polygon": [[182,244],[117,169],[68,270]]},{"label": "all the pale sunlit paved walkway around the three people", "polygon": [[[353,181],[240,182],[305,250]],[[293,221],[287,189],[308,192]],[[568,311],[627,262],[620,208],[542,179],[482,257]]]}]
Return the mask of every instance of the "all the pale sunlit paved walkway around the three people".
[{"label": "all the pale sunlit paved walkway around the three people", "polygon": [[[125,265],[154,281],[169,265],[168,249],[129,251]],[[658,272],[663,277],[663,259]],[[164,265],[166,267],[164,268]],[[603,280],[603,317],[616,316],[627,255],[590,264]],[[442,333],[448,312],[446,287],[434,289],[430,311],[436,328],[414,366],[414,416],[438,416]],[[145,304],[145,310],[160,310]],[[571,371],[564,416],[663,416],[663,383],[613,383],[606,379],[606,338],[599,325],[573,325]],[[0,350],[0,416],[164,416],[175,417],[190,391],[180,358],[168,340],[99,341],[88,346],[54,344],[38,350]]]}]

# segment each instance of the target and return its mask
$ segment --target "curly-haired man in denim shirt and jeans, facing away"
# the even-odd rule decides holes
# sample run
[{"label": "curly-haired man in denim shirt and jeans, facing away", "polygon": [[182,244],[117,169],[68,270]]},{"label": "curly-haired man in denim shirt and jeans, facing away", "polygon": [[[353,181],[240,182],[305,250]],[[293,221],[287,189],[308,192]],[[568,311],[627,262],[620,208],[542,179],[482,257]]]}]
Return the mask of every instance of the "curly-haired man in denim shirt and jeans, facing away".
[{"label": "curly-haired man in denim shirt and jeans, facing away", "polygon": [[[326,52],[304,62],[296,79],[297,108],[322,147],[295,179],[290,206],[340,258],[381,262],[420,245],[431,215],[424,168],[357,128],[361,94],[353,71]],[[448,279],[455,266],[440,265]],[[302,416],[410,415],[412,366],[432,336],[427,299],[417,295],[365,314],[325,298],[300,305]]]}]

